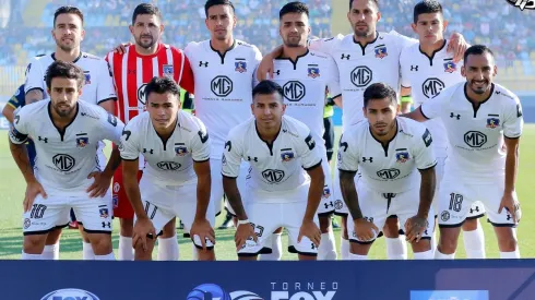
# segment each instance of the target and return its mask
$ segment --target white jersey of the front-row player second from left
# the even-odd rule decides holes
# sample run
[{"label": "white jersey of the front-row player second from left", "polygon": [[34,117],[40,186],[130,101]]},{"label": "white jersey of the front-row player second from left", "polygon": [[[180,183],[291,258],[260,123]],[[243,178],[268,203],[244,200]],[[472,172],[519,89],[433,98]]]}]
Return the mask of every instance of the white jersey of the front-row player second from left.
[{"label": "white jersey of the front-row player second from left", "polygon": [[120,151],[124,160],[135,160],[143,154],[146,161],[143,178],[166,185],[182,185],[197,180],[193,161],[210,159],[209,133],[201,120],[180,111],[175,131],[163,141],[145,111],[128,122]]}]

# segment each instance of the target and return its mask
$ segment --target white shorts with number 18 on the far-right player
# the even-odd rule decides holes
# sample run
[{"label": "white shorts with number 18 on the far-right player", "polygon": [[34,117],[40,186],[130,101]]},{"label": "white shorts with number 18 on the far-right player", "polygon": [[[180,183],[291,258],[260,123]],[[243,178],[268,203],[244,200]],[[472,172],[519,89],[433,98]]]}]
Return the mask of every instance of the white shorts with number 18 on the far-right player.
[{"label": "white shorts with number 18 on the far-right player", "polygon": [[[494,183],[477,183],[459,180],[445,175],[439,191],[439,227],[459,227],[472,214],[488,214],[488,221],[498,227],[516,227],[511,214],[502,209],[498,214],[504,191],[504,180],[497,178]],[[516,197],[516,193],[514,193]],[[482,206],[483,204],[483,206]],[[479,211],[479,212],[477,212]]]}]

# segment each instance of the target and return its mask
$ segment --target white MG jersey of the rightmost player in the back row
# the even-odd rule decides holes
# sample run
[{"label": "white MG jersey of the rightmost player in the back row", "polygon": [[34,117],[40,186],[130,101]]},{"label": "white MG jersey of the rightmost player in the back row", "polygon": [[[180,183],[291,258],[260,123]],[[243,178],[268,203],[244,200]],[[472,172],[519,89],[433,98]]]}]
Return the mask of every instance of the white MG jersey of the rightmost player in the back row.
[{"label": "white MG jersey of the rightmost player in the back row", "polygon": [[[418,107],[435,97],[440,91],[465,81],[461,75],[462,62],[455,63],[453,56],[448,53],[448,43],[431,57],[420,51],[420,45],[415,44],[403,49],[401,65],[401,85],[411,87],[411,96]],[[442,120],[435,119],[426,122],[432,134],[432,144],[437,157],[445,157],[448,148],[448,133]]]}]

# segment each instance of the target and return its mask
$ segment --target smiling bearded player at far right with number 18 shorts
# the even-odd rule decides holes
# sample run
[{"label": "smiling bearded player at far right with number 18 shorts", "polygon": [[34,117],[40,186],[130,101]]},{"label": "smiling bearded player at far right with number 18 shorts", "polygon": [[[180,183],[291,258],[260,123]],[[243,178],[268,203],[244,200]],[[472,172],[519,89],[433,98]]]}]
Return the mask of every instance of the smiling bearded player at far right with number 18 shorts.
[{"label": "smiling bearded player at far right with number 18 shorts", "polygon": [[406,115],[418,121],[441,118],[448,132],[436,259],[454,259],[461,226],[476,201],[485,205],[495,227],[500,257],[520,257],[514,228],[521,211],[514,185],[524,121],[516,95],[494,83],[497,71],[492,51],[472,46],[461,68],[466,82],[442,89]]}]

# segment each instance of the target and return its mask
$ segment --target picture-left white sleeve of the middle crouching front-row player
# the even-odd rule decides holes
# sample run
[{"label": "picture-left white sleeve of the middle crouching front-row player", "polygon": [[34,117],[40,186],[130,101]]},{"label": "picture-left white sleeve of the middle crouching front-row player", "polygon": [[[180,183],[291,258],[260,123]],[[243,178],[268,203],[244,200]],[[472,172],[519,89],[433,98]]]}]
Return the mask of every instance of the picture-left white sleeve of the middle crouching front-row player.
[{"label": "picture-left white sleeve of the middle crouching front-row player", "polygon": [[243,136],[240,136],[241,133],[236,129],[228,133],[222,158],[222,175],[229,178],[238,178],[241,157],[243,157]]}]

